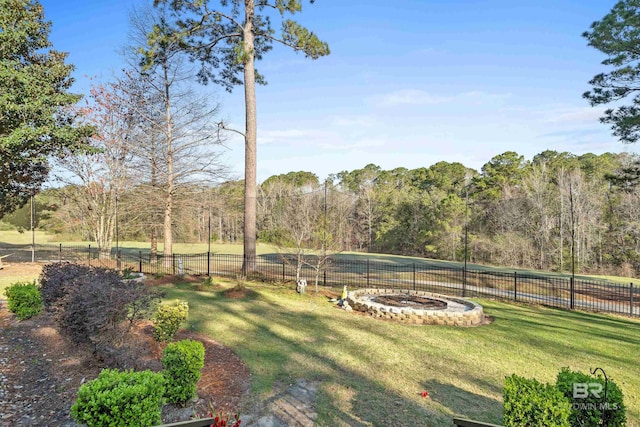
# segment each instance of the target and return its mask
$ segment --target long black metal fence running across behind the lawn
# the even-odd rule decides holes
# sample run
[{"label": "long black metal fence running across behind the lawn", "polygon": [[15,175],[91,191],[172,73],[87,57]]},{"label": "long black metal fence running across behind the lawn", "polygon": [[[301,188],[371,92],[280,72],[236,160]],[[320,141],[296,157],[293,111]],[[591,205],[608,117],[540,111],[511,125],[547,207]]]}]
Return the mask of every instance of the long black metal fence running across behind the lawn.
[{"label": "long black metal fence running across behind the lawn", "polygon": [[[200,253],[151,256],[148,251],[126,249],[118,255],[101,254],[91,246],[30,245],[0,247],[5,262],[72,261],[88,265],[131,269],[153,275],[215,275],[237,277],[242,272],[243,256]],[[404,261],[404,260],[402,260]],[[293,281],[297,262],[290,254],[260,255],[255,259],[254,278],[268,281]],[[415,263],[354,260],[332,257],[324,265],[307,256],[300,277],[309,285],[347,285],[351,288],[396,288],[436,292],[460,297],[482,297],[519,301],[586,311],[640,315],[640,295],[633,283],[582,280],[558,275],[504,273],[475,268],[443,267],[436,262]]]}]

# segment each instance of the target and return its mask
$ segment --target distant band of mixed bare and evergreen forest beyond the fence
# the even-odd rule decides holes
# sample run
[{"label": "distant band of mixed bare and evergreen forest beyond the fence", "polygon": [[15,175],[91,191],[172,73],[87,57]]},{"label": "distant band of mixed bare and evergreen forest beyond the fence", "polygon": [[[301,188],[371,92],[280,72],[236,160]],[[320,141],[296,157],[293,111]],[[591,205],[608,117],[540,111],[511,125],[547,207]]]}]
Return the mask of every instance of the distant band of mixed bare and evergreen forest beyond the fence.
[{"label": "distant band of mixed bare and evergreen forest beyond the fence", "polygon": [[[513,151],[480,171],[438,162],[383,170],[369,164],[321,181],[311,172],[265,180],[258,238],[299,251],[368,251],[473,263],[633,277],[640,272],[639,159]],[[41,192],[37,226],[93,240],[99,221],[78,186]],[[162,234],[162,199],[131,186],[120,195],[120,240]],[[88,210],[87,210],[88,209]],[[29,228],[29,205],[4,226]],[[176,194],[174,237],[182,242],[242,240],[243,181],[194,185]]]}]

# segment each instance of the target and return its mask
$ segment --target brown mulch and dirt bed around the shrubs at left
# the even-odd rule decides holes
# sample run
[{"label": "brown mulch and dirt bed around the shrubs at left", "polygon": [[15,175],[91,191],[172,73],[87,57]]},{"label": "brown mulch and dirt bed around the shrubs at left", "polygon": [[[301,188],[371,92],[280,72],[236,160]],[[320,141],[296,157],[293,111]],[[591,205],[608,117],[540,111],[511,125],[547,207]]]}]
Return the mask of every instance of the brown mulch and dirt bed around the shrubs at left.
[{"label": "brown mulch and dirt bed around the shrubs at left", "polygon": [[[0,425],[76,426],[69,415],[76,392],[106,366],[63,339],[47,314],[20,322],[3,306],[0,328]],[[187,407],[165,406],[163,422],[206,415],[210,405],[222,412],[237,411],[251,384],[247,366],[231,349],[204,335],[180,331],[176,336],[186,338],[205,346],[198,400]],[[153,340],[152,325],[136,325],[132,339],[135,368],[160,370],[164,346]]]}]

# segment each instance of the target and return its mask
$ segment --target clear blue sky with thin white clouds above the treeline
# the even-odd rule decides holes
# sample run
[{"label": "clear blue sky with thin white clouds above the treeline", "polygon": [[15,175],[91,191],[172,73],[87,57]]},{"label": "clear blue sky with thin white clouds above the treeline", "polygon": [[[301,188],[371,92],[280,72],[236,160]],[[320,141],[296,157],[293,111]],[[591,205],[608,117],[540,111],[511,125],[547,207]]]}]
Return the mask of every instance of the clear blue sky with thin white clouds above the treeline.
[{"label": "clear blue sky with thin white clouds above the treeline", "polygon": [[[142,0],[144,1],[144,0]],[[213,2],[212,2],[213,3]],[[582,99],[603,55],[581,34],[608,0],[317,0],[298,20],[329,43],[316,61],[276,47],[258,63],[258,180],[293,170],[321,179],[361,168],[458,161],[480,169],[512,150],[633,151]],[[123,65],[134,0],[42,0],[51,40],[70,53],[76,92]],[[243,92],[199,87],[244,123]],[[243,142],[226,158],[237,177]]]}]

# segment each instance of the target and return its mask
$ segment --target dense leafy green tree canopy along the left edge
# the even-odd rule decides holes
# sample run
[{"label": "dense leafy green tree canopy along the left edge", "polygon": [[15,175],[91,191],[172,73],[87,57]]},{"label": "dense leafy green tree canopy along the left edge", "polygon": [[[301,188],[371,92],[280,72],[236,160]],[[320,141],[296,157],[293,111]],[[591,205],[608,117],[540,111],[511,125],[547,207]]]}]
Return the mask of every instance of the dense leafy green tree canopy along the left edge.
[{"label": "dense leafy green tree canopy along the left edge", "polygon": [[0,0],[0,217],[24,205],[48,175],[49,156],[85,150],[68,92],[73,66],[50,49],[51,23],[35,0]]}]

